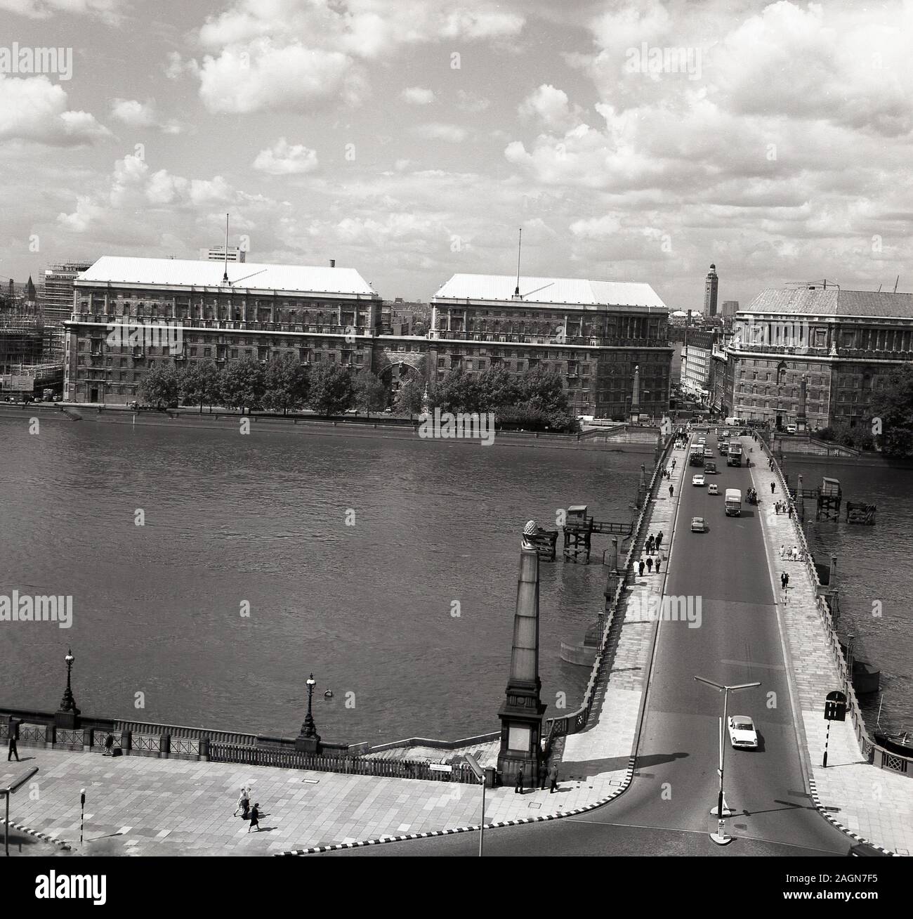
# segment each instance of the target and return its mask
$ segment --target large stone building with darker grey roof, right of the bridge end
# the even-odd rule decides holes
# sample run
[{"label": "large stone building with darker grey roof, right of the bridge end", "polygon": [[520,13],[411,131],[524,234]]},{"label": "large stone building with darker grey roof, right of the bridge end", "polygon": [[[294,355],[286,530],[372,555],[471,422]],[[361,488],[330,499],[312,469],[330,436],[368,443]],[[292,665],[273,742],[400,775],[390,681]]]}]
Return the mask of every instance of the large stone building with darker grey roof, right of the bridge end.
[{"label": "large stone building with darker grey roof, right of the bridge end", "polygon": [[733,414],[784,427],[869,424],[887,373],[913,360],[913,294],[827,284],[767,289],[736,316],[727,347]]}]

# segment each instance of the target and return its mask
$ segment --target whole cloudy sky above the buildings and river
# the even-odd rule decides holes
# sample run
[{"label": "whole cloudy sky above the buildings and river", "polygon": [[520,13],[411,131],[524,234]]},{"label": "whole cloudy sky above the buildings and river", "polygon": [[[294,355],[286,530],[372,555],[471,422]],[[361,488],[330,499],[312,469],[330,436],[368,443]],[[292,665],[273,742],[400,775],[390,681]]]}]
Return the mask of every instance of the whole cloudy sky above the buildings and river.
[{"label": "whole cloudy sky above the buildings and river", "polygon": [[900,0],[0,0],[0,276],[197,257],[230,211],[390,299],[512,273],[521,226],[524,274],[674,309],[712,261],[720,300],[911,290],[911,47]]}]

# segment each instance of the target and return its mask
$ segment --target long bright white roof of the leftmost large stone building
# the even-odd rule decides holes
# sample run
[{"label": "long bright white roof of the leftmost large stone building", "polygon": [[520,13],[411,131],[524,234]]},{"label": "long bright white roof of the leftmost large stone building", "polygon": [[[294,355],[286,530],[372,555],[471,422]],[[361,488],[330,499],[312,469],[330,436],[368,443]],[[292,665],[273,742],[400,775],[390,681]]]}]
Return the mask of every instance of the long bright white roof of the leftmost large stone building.
[{"label": "long bright white roof of the leftmost large stone building", "polygon": [[[76,283],[136,284],[142,287],[222,287],[224,262],[189,258],[130,258],[102,255]],[[310,265],[262,265],[229,262],[229,284],[239,289],[288,290],[301,293],[362,294],[377,291],[355,268]]]}]

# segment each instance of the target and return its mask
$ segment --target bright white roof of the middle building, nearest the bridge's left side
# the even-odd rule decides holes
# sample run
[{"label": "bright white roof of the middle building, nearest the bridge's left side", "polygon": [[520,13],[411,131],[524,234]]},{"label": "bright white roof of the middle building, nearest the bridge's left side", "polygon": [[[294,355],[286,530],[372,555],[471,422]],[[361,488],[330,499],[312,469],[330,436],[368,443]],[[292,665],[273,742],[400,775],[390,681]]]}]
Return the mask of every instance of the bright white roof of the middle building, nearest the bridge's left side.
[{"label": "bright white roof of the middle building, nearest the bridge's left side", "polygon": [[574,306],[647,306],[665,310],[657,292],[639,281],[594,281],[587,278],[520,278],[520,300],[514,300],[515,275],[454,275],[434,300],[507,301]]}]

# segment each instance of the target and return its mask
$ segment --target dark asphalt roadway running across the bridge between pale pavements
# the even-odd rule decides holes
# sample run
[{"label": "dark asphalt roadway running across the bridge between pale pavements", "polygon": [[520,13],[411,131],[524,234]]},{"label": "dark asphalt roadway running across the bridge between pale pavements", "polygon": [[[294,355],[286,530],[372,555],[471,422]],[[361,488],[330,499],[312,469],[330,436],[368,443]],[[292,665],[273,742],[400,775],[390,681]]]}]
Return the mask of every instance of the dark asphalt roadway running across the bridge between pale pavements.
[{"label": "dark asphalt roadway running across the bridge between pale pavements", "polygon": [[[707,437],[711,446],[715,440]],[[742,442],[748,453],[747,438]],[[754,455],[762,456],[757,448]],[[682,484],[666,594],[700,597],[702,621],[696,629],[660,623],[631,787],[577,818],[486,831],[486,855],[847,854],[851,841],[803,790],[757,508],[743,504],[741,516],[724,513],[726,488],[739,488],[744,496],[750,470],[727,467],[719,458],[716,463],[718,474],[706,479],[716,482],[720,494],[691,484],[693,472],[701,471],[696,468],[689,468]],[[761,495],[761,501],[770,499]],[[691,532],[693,516],[704,516],[707,532]],[[716,827],[710,811],[716,806],[723,698],[694,675],[729,685],[761,682],[729,696],[729,714],[751,716],[761,748],[727,745],[726,800],[735,811],[727,830],[737,838],[724,848],[708,838]],[[477,849],[478,835],[466,833],[333,855],[472,855]]]}]

